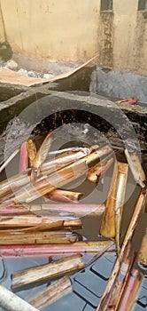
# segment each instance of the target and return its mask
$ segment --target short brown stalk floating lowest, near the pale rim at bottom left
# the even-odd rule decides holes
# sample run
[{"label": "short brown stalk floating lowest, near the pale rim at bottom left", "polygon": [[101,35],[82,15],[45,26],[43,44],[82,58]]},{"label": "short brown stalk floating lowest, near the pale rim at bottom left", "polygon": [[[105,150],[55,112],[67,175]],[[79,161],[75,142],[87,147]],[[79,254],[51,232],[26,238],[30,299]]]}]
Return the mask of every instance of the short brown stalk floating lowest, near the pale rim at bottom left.
[{"label": "short brown stalk floating lowest, near the pale rim at bottom left", "polygon": [[39,293],[29,303],[37,308],[45,307],[71,291],[73,291],[72,283],[69,276],[65,275],[58,281],[51,283],[46,290]]}]

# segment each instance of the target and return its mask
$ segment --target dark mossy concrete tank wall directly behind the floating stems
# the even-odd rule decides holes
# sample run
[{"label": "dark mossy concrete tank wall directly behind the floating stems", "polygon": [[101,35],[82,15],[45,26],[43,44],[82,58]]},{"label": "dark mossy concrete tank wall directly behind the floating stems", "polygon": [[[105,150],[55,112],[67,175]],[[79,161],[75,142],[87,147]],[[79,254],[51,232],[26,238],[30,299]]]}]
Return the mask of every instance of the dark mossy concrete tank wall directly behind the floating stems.
[{"label": "dark mossy concrete tank wall directly behind the floating stems", "polygon": [[[0,114],[1,131],[13,116],[18,117],[14,118],[2,135],[1,155],[4,153],[5,141],[8,153],[10,150],[12,153],[12,148],[13,150],[19,148],[30,135],[42,138],[43,133],[50,129],[54,130],[63,124],[80,123],[89,124],[96,129],[93,141],[95,138],[101,143],[105,139],[109,140],[112,148],[119,149],[120,153],[121,151],[123,153],[124,147],[136,149],[139,153],[141,151],[143,163],[146,163],[147,109],[145,108],[138,107],[137,110],[137,107],[125,106],[124,109],[120,107],[122,105],[115,105],[96,94],[90,96],[89,92],[58,92],[49,90],[48,84],[19,94],[11,103],[8,101],[8,107],[3,108]],[[131,121],[130,124],[128,120]],[[79,132],[77,137],[81,140]],[[87,141],[86,135],[84,141]]]}]

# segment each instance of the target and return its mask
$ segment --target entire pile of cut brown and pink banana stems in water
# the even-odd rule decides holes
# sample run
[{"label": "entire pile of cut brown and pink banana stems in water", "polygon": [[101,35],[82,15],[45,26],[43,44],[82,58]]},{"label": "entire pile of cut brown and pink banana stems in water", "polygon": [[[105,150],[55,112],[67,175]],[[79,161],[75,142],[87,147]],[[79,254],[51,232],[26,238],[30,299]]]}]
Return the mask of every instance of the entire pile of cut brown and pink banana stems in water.
[{"label": "entire pile of cut brown and pink banana stems in water", "polygon": [[[143,279],[143,274],[133,265],[135,253],[131,240],[137,226],[146,197],[142,165],[138,156],[125,150],[127,163],[120,163],[112,155],[108,145],[89,148],[66,148],[50,155],[53,137],[49,132],[36,151],[33,140],[25,141],[19,150],[19,173],[0,183],[0,255],[23,256],[36,254],[59,254],[63,258],[48,265],[33,267],[12,275],[12,288],[35,282],[47,282],[48,278],[63,276],[49,288],[30,301],[34,307],[43,307],[60,295],[72,291],[69,275],[87,267],[82,255],[96,253],[93,260],[104,251],[115,250],[118,259],[97,306],[101,310],[131,310],[132,301]],[[2,164],[0,171],[12,161],[18,150]],[[85,176],[96,183],[113,164],[112,181],[104,204],[79,203],[81,192],[66,190],[68,183]],[[128,169],[132,172],[141,192],[135,206],[127,234],[120,244],[120,226],[128,183]],[[36,203],[35,200],[50,199],[56,203]],[[58,204],[59,202],[59,204]],[[104,240],[83,241],[76,229],[82,227],[81,217],[102,215],[100,235]],[[97,228],[98,230],[98,228]],[[114,242],[114,243],[113,243]],[[65,257],[68,254],[71,256]],[[92,261],[91,261],[92,262]],[[146,235],[138,262],[146,265]],[[129,287],[131,298],[128,299]]]}]

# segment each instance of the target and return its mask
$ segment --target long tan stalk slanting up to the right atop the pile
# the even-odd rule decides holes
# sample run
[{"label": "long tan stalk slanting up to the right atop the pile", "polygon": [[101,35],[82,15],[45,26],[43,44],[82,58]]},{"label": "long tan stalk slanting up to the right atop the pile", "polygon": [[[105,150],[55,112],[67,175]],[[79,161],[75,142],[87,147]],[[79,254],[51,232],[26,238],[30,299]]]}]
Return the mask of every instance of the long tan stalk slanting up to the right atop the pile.
[{"label": "long tan stalk slanting up to the right atop the pile", "polygon": [[[111,148],[105,146],[99,150],[93,151],[97,146],[93,146],[90,148],[92,152],[89,156],[84,156],[82,159],[78,160],[76,163],[72,163],[67,165],[65,168],[62,168],[55,173],[50,174],[50,177],[44,176],[40,179],[36,179],[33,185],[29,184],[29,179],[25,179],[22,181],[23,175],[17,175],[15,177],[16,181],[12,178],[12,184],[6,180],[4,189],[4,182],[2,184],[2,192],[0,187],[0,195],[4,195],[5,193],[9,193],[12,189],[17,189],[17,187],[21,187],[18,191],[16,191],[15,196],[6,200],[3,197],[3,204],[12,204],[19,202],[31,202],[36,198],[46,195],[48,192],[55,190],[57,187],[62,187],[66,185],[66,183],[79,178],[86,171],[86,166],[98,160],[99,155],[110,153]],[[49,172],[50,173],[50,172]],[[76,174],[75,174],[76,173]],[[33,176],[33,175],[32,175]],[[26,185],[27,184],[27,185]],[[25,187],[22,187],[26,185]],[[1,186],[1,185],[0,185]],[[47,189],[49,189],[47,191]]]}]

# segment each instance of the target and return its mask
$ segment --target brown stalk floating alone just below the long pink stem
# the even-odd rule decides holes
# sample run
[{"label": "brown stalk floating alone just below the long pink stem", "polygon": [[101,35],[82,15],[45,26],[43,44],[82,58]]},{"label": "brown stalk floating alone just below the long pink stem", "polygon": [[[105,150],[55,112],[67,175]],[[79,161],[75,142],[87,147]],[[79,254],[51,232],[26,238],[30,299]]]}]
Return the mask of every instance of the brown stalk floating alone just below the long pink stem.
[{"label": "brown stalk floating alone just below the long pink stem", "polygon": [[58,259],[46,265],[39,267],[32,267],[12,275],[12,288],[18,288],[23,285],[35,283],[39,281],[46,281],[50,277],[78,270],[85,267],[81,259],[81,255],[72,255],[64,259]]}]

